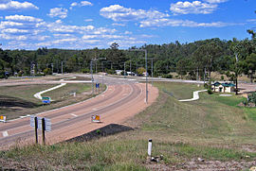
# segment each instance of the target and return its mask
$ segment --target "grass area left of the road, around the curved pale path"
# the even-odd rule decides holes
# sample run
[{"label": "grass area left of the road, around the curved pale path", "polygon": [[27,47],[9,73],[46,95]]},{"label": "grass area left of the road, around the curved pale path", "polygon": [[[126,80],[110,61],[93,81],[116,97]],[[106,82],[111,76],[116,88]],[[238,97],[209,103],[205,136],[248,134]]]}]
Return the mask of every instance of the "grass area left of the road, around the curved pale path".
[{"label": "grass area left of the road, around the curved pale path", "polygon": [[[0,113],[9,119],[17,118],[21,115],[34,114],[60,108],[72,103],[90,98],[91,84],[66,84],[64,87],[42,94],[50,96],[54,101],[50,105],[43,105],[42,101],[33,95],[46,89],[57,86],[58,84],[46,85],[18,85],[0,87]],[[74,97],[71,93],[77,93]]]}]

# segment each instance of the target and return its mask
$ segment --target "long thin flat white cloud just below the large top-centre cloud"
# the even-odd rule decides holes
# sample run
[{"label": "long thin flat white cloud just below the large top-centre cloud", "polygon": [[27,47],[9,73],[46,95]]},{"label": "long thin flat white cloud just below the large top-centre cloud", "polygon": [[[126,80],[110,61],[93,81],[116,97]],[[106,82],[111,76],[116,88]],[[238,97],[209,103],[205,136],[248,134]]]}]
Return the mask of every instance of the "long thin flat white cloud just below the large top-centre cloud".
[{"label": "long thin flat white cloud just below the large top-centre cloud", "polygon": [[190,20],[174,20],[174,19],[157,19],[140,22],[139,27],[159,27],[159,26],[187,26],[187,27],[222,27],[234,26],[235,24],[227,24],[222,22],[212,23],[196,23]]}]

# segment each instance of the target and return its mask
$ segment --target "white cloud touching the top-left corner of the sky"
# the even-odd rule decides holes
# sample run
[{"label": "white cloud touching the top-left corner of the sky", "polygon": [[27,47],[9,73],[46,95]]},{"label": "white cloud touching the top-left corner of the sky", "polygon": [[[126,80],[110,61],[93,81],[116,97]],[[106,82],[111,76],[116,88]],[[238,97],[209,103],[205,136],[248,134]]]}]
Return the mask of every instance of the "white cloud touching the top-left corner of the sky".
[{"label": "white cloud touching the top-left corner of the sky", "polygon": [[11,0],[0,1],[0,10],[13,10],[13,9],[39,9],[39,8],[29,2],[20,3],[18,1],[11,1]]}]

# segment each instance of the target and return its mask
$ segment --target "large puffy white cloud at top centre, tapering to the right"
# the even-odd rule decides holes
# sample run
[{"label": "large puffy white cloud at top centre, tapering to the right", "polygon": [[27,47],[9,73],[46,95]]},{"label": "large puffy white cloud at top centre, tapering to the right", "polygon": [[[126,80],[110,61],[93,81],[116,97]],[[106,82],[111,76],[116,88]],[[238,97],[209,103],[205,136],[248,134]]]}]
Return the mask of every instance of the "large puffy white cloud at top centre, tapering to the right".
[{"label": "large puffy white cloud at top centre, tapering to the right", "polygon": [[123,21],[137,21],[149,18],[163,18],[168,17],[168,14],[159,12],[154,9],[127,9],[119,5],[112,5],[100,10],[101,16],[112,19],[115,22]]}]

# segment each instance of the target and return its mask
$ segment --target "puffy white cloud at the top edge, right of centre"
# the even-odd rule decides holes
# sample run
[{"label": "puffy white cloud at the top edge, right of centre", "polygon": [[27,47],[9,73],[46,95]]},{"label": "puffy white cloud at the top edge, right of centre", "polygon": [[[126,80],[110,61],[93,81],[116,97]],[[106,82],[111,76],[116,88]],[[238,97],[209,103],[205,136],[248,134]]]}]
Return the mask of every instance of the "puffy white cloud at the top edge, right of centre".
[{"label": "puffy white cloud at the top edge, right of centre", "polygon": [[212,13],[212,11],[215,10],[217,7],[218,6],[216,4],[202,3],[200,1],[193,1],[192,3],[189,1],[179,1],[176,4],[171,4],[170,10],[173,11],[174,14],[208,14]]}]

